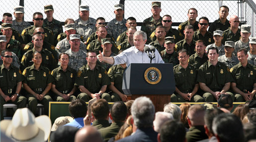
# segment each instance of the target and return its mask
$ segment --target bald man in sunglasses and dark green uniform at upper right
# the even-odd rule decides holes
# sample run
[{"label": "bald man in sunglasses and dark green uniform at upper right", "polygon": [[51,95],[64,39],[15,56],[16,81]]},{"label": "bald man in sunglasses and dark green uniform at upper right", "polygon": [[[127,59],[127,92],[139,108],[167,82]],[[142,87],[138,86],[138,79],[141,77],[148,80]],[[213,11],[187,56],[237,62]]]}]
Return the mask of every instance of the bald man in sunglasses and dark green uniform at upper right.
[{"label": "bald man in sunglasses and dark green uniform at upper right", "polygon": [[238,16],[231,16],[229,23],[230,28],[223,32],[222,44],[225,44],[226,41],[237,42],[241,39],[241,30],[238,28],[240,23]]}]

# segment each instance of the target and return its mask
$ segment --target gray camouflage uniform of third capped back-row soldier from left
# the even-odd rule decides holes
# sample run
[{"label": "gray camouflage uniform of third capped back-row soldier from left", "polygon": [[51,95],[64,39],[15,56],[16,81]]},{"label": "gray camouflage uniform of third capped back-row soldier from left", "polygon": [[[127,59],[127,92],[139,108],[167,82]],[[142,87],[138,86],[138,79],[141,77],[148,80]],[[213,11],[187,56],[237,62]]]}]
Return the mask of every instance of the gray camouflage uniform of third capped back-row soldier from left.
[{"label": "gray camouflage uniform of third capped back-row soldier from left", "polygon": [[81,22],[81,18],[79,17],[79,19],[77,19],[75,21],[76,24],[76,31],[83,36],[83,39],[85,41],[87,41],[87,38],[96,31],[95,28],[95,24],[96,24],[96,20],[89,17],[88,22],[86,25],[83,25],[83,23]]}]

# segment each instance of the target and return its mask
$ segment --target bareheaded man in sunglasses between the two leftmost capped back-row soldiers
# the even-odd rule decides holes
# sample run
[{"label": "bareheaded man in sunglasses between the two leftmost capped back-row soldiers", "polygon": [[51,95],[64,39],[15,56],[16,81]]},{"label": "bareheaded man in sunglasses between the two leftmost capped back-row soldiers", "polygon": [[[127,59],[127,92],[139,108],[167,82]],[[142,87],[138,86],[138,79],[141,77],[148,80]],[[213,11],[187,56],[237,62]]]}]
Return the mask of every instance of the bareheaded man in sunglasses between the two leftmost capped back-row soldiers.
[{"label": "bareheaded man in sunglasses between the two leftmost capped back-row soldiers", "polygon": [[[32,36],[36,27],[43,27],[43,20],[44,18],[41,12],[35,12],[33,14],[34,26],[24,29],[21,33],[21,37],[25,44],[28,44],[29,42],[32,41]],[[44,29],[44,37],[45,37],[44,40],[54,45],[54,37],[53,37],[52,30],[46,29],[46,28],[43,28],[43,29]]]}]

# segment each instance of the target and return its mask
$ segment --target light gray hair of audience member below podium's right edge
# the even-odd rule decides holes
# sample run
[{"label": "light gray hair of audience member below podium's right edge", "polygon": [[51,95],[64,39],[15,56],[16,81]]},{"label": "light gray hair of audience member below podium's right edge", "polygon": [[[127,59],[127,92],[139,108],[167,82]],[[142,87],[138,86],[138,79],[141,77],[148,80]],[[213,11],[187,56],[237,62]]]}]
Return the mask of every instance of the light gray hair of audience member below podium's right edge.
[{"label": "light gray hair of audience member below podium's right edge", "polygon": [[181,110],[176,104],[173,104],[171,102],[165,104],[164,112],[171,113],[175,120],[180,121]]}]

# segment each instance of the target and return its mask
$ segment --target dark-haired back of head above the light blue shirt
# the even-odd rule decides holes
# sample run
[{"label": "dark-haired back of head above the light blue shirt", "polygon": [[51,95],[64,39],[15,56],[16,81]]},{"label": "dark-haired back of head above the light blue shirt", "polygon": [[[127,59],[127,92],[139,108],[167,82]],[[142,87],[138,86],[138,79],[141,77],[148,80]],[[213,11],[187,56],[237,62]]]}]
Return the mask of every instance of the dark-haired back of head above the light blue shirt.
[{"label": "dark-haired back of head above the light blue shirt", "polygon": [[87,113],[87,106],[82,99],[75,99],[69,104],[69,112],[74,118],[85,117]]}]

